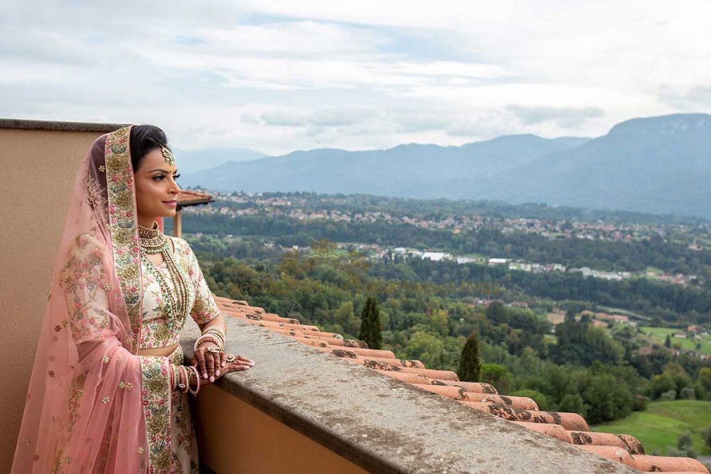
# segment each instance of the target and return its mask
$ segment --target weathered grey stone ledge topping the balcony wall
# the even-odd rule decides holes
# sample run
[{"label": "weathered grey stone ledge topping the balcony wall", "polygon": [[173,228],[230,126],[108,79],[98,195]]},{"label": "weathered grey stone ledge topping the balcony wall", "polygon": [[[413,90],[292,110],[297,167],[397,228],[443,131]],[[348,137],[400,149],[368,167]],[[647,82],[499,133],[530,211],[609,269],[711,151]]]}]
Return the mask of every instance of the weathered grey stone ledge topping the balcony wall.
[{"label": "weathered grey stone ledge topping the balcony wall", "polygon": [[[226,350],[255,367],[218,387],[365,470],[379,473],[634,473],[375,370],[225,315]],[[186,360],[200,335],[181,334]]]}]

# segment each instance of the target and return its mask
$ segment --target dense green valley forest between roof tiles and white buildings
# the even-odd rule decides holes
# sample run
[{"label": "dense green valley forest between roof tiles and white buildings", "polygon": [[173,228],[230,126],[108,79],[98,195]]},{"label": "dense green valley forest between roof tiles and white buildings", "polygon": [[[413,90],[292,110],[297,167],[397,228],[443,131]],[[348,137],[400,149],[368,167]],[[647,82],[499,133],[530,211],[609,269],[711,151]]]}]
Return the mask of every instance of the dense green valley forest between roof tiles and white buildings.
[{"label": "dense green valley forest between roof tiles and white buildings", "polygon": [[[606,299],[600,296],[603,291],[621,300],[628,294],[624,301],[651,298],[651,304],[660,307],[673,304],[655,297],[652,290],[646,295],[644,286],[618,291],[613,285],[621,283],[604,281],[604,285],[611,286],[591,289],[582,277],[528,281],[551,276],[531,274],[519,278],[509,271],[474,265],[466,273],[467,266],[419,260],[378,262],[368,271],[349,274],[343,266],[327,261],[313,264],[311,260],[312,264],[303,265],[294,260],[293,254],[285,256],[278,249],[260,251],[257,242],[235,242],[240,259],[228,256],[232,247],[222,239],[203,236],[191,239],[191,243],[210,288],[218,295],[247,299],[254,306],[319,325],[322,330],[341,333],[346,338],[358,338],[363,316],[373,313],[372,308],[368,309],[368,298],[374,298],[383,348],[393,350],[402,359],[417,359],[430,368],[456,371],[467,340],[476,335],[481,360],[479,379],[494,384],[502,393],[531,397],[541,409],[575,411],[597,424],[643,409],[648,399],[711,399],[710,360],[692,355],[672,357],[663,347],[643,355],[636,350],[636,332],[630,326],[603,330],[587,318],[574,318],[589,304],[584,298]],[[487,278],[489,283],[555,298],[574,297],[575,301],[568,302],[570,311],[565,321],[552,333],[551,323],[535,311],[496,301],[487,308],[474,306],[471,295],[442,295],[434,291],[435,287],[410,291],[395,285],[390,293],[360,291],[377,288],[370,284],[388,279]],[[570,286],[566,289],[566,285]],[[581,293],[576,293],[576,288]],[[702,299],[689,301],[690,307],[705,304]],[[688,317],[695,314],[693,311],[675,314]],[[551,334],[555,335],[553,340],[549,338]]]}]

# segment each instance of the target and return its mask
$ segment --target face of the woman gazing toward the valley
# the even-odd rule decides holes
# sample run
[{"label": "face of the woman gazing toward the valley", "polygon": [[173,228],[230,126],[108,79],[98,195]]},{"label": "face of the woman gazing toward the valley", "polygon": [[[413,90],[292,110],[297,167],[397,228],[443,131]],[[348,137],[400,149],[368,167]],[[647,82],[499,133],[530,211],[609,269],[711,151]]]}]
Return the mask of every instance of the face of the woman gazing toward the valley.
[{"label": "face of the woman gazing toward the valley", "polygon": [[176,197],[180,187],[176,183],[178,168],[164,158],[161,149],[156,148],[146,153],[138,170],[136,179],[136,204],[139,220],[149,223],[156,217],[176,215]]}]

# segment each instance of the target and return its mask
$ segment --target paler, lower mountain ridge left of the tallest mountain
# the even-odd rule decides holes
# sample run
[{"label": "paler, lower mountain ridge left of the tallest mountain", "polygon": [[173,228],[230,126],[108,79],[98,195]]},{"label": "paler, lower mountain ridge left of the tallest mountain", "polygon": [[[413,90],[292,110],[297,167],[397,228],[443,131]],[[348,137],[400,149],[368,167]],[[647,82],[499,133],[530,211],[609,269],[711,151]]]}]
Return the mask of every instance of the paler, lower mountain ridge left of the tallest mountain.
[{"label": "paler, lower mountain ridge left of the tallest mountain", "polygon": [[441,183],[453,178],[466,177],[474,182],[587,140],[510,135],[463,146],[409,144],[371,151],[294,151],[246,163],[225,163],[186,176],[183,183],[218,190],[439,197],[447,192]]}]

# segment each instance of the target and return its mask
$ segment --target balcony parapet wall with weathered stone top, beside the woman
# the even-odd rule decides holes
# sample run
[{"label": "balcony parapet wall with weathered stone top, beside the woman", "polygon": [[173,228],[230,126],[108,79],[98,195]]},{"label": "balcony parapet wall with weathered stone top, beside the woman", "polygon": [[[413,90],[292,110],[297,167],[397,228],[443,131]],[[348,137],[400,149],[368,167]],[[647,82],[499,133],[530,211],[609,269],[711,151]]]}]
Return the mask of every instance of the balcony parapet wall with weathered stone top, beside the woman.
[{"label": "balcony parapet wall with weathered stone top, beside the woman", "polygon": [[[255,367],[193,404],[218,473],[631,473],[625,465],[225,316],[228,352]],[[186,358],[199,335],[181,335]]]}]

